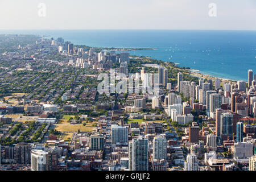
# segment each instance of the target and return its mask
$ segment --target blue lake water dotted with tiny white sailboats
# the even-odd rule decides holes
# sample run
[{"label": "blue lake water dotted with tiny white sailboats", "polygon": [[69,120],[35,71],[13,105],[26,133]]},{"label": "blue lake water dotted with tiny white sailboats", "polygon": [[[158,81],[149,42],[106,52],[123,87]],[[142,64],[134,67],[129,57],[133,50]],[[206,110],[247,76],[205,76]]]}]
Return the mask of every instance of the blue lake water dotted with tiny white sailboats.
[{"label": "blue lake water dotted with tiny white sailboats", "polygon": [[130,54],[172,61],[232,80],[246,81],[248,69],[256,72],[256,31],[0,30],[0,34],[49,35],[93,47],[155,48]]}]

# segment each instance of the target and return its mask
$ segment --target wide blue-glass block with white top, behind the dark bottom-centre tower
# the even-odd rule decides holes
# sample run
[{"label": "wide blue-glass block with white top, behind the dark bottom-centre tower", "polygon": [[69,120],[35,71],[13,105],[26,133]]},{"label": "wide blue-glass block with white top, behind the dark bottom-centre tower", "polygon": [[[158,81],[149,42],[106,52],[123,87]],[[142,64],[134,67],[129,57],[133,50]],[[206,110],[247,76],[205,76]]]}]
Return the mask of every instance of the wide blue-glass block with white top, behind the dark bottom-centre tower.
[{"label": "wide blue-glass block with white top, behind the dark bottom-centre tower", "polygon": [[112,132],[112,144],[128,142],[127,127],[112,125],[111,132]]}]

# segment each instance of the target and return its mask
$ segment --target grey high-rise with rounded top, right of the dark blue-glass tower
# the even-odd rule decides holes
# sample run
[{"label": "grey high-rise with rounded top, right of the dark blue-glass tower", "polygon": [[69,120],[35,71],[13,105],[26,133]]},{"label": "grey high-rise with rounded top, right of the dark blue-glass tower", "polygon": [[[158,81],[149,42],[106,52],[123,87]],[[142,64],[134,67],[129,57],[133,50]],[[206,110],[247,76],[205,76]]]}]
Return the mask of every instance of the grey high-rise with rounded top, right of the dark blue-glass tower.
[{"label": "grey high-rise with rounded top, right of the dark blue-glass tower", "polygon": [[163,135],[156,135],[153,139],[154,159],[167,159],[167,140]]}]

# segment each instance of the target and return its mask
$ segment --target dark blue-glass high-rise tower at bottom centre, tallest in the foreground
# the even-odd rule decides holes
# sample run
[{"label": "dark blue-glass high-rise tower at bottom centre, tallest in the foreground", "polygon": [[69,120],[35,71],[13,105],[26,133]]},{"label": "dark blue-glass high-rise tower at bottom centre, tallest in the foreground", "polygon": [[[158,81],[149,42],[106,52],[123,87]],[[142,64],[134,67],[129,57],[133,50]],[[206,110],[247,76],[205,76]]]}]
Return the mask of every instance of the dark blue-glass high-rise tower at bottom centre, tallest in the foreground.
[{"label": "dark blue-glass high-rise tower at bottom centre, tallest in the foreground", "polygon": [[148,140],[142,135],[129,142],[129,170],[148,170]]}]

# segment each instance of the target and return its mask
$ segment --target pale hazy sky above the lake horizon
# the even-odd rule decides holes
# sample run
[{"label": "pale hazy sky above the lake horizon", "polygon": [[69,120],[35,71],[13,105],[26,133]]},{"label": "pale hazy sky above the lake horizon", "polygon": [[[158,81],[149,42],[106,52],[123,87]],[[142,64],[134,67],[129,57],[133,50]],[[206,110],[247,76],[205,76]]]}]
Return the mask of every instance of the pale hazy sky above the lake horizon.
[{"label": "pale hazy sky above the lake horizon", "polygon": [[0,0],[0,30],[78,29],[256,30],[256,0]]}]

